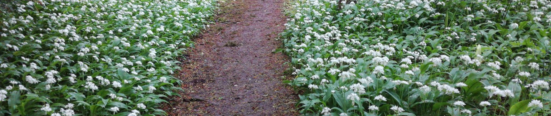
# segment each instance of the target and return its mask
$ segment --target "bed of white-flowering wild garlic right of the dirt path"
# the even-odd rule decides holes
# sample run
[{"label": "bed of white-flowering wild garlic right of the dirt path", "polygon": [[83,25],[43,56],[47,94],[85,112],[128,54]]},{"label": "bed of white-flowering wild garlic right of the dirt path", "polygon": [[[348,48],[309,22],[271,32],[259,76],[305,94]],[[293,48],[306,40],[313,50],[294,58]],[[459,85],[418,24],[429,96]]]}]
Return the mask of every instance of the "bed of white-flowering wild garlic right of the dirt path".
[{"label": "bed of white-flowering wild garlic right of the dirt path", "polygon": [[300,0],[285,49],[308,115],[551,115],[551,2]]}]

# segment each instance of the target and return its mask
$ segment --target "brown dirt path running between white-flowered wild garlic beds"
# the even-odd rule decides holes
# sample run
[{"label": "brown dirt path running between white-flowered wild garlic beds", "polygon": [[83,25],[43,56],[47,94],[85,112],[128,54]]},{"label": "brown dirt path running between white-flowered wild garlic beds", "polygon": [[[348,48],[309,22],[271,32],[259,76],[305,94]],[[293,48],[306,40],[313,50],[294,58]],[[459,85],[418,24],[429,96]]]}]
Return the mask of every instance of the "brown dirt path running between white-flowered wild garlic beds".
[{"label": "brown dirt path running between white-flowered wild garlic beds", "polygon": [[185,92],[164,109],[169,115],[298,115],[297,95],[282,83],[283,0],[222,3],[217,23],[195,39],[178,78]]}]

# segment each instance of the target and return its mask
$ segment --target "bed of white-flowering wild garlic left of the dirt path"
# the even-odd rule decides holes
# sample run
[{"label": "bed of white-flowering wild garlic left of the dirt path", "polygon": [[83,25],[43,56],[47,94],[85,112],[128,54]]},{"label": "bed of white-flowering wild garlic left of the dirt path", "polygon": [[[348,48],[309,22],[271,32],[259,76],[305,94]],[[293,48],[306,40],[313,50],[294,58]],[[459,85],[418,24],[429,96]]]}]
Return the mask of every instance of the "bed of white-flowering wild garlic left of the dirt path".
[{"label": "bed of white-flowering wild garlic left of the dirt path", "polygon": [[0,115],[165,115],[211,0],[2,2]]}]

